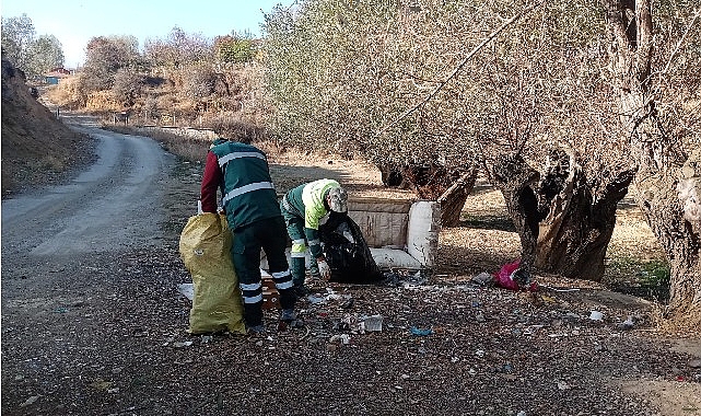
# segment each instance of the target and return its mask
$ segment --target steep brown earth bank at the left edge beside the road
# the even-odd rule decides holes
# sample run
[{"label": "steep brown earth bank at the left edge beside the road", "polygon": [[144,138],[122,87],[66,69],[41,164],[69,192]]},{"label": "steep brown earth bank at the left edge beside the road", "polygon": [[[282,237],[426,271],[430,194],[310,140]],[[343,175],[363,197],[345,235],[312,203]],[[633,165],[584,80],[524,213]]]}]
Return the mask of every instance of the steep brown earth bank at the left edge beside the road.
[{"label": "steep brown earth bank at the left edge beside the road", "polygon": [[30,95],[22,72],[2,59],[2,198],[66,177],[92,158],[90,138],[69,129]]}]

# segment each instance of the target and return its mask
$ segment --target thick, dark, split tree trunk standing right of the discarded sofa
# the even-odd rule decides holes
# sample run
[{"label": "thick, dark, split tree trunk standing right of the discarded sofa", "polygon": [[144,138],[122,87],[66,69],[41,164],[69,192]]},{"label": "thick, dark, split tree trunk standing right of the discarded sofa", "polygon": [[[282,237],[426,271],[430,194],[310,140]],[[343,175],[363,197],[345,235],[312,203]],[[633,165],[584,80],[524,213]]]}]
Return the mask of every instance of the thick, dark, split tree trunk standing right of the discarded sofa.
[{"label": "thick, dark, split tree trunk standing right of the discarded sofa", "polygon": [[495,163],[494,184],[521,238],[522,266],[600,281],[616,207],[632,177],[621,173],[594,197],[572,151],[552,151],[542,174],[518,155]]}]

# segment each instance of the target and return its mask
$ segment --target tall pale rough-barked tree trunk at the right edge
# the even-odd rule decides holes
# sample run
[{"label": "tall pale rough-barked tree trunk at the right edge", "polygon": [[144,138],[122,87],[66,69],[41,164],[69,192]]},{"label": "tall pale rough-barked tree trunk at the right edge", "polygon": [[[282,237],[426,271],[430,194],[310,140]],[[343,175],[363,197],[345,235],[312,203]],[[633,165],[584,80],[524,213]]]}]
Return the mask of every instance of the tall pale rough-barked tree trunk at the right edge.
[{"label": "tall pale rough-barked tree trunk at the right edge", "polygon": [[650,93],[650,0],[605,4],[623,135],[639,164],[635,198],[669,259],[669,312],[693,327],[701,324],[701,151],[687,158],[681,140],[669,137],[657,118]]}]

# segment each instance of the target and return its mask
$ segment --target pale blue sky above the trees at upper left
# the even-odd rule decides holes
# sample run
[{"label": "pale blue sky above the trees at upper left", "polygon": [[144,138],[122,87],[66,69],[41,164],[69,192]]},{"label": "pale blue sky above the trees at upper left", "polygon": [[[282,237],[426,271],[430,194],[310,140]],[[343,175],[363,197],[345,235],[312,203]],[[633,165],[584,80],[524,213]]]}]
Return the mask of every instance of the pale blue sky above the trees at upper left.
[{"label": "pale blue sky above the trees at upper left", "polygon": [[63,47],[65,67],[84,63],[85,45],[95,36],[166,38],[173,27],[206,37],[249,32],[261,35],[264,12],[294,0],[2,0],[3,19],[25,13],[35,35],[54,35]]}]

